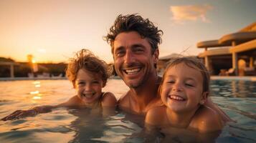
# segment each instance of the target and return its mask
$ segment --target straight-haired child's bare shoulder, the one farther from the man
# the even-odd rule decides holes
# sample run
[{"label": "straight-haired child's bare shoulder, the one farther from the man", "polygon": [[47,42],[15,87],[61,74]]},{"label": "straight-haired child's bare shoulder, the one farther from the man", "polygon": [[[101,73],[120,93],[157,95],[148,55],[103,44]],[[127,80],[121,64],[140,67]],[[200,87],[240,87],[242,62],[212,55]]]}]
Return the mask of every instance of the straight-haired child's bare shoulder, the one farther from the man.
[{"label": "straight-haired child's bare shoulder, the one farther from the man", "polygon": [[190,127],[199,132],[214,132],[221,130],[223,123],[219,114],[209,107],[201,107],[193,117]]}]

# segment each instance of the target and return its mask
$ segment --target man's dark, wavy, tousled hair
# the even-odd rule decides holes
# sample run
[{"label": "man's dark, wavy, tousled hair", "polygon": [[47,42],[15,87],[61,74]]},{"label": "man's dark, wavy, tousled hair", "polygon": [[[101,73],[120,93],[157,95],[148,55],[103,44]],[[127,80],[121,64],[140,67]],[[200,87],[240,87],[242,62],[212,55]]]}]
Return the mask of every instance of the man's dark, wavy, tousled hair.
[{"label": "man's dark, wavy, tousled hair", "polygon": [[115,23],[110,27],[110,31],[105,40],[110,44],[113,54],[113,44],[115,37],[122,32],[136,31],[142,38],[146,38],[151,45],[151,53],[153,54],[158,49],[158,44],[161,44],[161,35],[163,31],[158,30],[157,26],[154,26],[148,19],[143,19],[137,14],[118,15],[115,19]]}]

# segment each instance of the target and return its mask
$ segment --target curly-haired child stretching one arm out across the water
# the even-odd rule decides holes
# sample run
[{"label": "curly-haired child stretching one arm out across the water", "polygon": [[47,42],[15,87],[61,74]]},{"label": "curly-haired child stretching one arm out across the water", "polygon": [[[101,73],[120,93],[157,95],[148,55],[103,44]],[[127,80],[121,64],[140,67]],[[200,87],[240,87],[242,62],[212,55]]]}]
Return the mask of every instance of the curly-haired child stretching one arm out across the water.
[{"label": "curly-haired child stretching one arm out across the water", "polygon": [[22,117],[34,116],[35,114],[50,112],[58,107],[72,108],[98,108],[115,107],[117,101],[110,92],[102,92],[108,77],[110,68],[105,61],[98,59],[87,49],[78,51],[75,58],[70,59],[66,74],[77,95],[71,97],[67,102],[55,106],[40,106],[29,110],[17,110],[1,120],[19,119]]}]

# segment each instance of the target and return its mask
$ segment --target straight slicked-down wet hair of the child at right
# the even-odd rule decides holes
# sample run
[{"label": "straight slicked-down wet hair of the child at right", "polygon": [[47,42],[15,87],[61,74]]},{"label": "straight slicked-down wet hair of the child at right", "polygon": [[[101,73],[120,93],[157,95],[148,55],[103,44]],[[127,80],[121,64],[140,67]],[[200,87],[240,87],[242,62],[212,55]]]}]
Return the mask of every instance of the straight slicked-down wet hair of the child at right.
[{"label": "straight slicked-down wet hair of the child at right", "polygon": [[[201,60],[194,56],[184,56],[184,57],[177,57],[174,59],[171,59],[168,63],[168,66],[166,66],[165,71],[163,72],[163,79],[166,76],[166,71],[170,69],[173,66],[176,66],[177,64],[186,64],[186,66],[189,66],[193,69],[199,70],[203,77],[203,92],[209,92],[209,82],[210,82],[210,74],[207,68],[204,66],[204,63],[202,63]],[[163,84],[163,79],[160,85]],[[161,90],[161,88],[159,88]],[[161,91],[158,91],[159,94],[161,94]]]}]

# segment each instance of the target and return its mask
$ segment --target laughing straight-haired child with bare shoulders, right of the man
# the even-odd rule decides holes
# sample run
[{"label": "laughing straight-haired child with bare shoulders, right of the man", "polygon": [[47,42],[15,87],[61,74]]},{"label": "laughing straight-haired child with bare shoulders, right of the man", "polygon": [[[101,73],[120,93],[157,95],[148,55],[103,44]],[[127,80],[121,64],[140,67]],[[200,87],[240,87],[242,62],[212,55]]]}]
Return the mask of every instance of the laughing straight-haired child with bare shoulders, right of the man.
[{"label": "laughing straight-haired child with bare shoulders, right of the man", "polygon": [[209,95],[209,72],[199,59],[173,59],[163,73],[159,94],[165,106],[146,114],[149,127],[177,127],[196,132],[214,132],[224,122],[205,102]]}]

